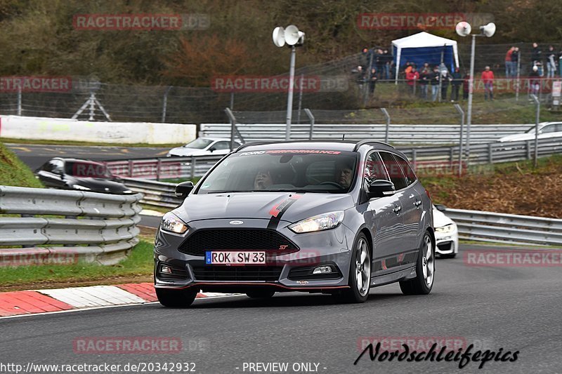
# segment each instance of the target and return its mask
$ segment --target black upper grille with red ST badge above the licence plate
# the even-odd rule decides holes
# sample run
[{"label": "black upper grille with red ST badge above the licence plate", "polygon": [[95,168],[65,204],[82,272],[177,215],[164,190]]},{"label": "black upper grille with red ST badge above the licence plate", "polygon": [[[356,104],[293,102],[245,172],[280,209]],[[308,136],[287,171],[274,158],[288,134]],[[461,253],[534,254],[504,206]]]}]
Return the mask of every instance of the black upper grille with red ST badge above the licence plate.
[{"label": "black upper grille with red ST badge above the licence plate", "polygon": [[299,247],[273,229],[200,229],[179,247],[181,253],[194,256],[204,256],[205,251],[244,250],[287,254]]}]

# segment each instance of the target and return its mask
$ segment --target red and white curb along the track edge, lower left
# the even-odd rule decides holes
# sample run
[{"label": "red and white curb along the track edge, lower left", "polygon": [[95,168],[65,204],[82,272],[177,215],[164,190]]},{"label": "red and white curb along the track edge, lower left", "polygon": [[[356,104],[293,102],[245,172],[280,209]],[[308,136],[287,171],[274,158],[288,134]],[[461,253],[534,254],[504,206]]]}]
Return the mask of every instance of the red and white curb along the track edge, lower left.
[{"label": "red and white curb along the track edge, lower left", "polygon": [[[229,295],[236,294],[197,293],[197,298],[216,298]],[[157,300],[152,283],[13,291],[0,293],[0,317],[144,304]]]}]

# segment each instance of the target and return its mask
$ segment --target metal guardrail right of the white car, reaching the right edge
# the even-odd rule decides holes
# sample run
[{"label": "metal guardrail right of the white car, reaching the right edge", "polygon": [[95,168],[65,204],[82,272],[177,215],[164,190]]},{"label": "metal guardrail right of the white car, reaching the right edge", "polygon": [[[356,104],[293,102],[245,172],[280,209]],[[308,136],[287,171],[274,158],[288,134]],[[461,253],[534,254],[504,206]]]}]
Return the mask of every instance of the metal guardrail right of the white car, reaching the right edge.
[{"label": "metal guardrail right of the white car, reaching the right edge", "polygon": [[451,208],[443,213],[457,223],[460,239],[562,246],[562,220]]}]

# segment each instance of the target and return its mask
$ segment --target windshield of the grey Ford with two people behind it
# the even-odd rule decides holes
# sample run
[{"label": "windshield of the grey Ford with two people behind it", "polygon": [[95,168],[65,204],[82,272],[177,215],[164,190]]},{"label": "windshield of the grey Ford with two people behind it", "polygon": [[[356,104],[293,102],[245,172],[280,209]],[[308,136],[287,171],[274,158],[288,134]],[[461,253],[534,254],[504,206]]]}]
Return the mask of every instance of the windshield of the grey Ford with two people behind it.
[{"label": "windshield of the grey Ford with two people behind it", "polygon": [[270,149],[231,154],[202,180],[197,194],[218,192],[346,193],[357,153],[326,149]]}]

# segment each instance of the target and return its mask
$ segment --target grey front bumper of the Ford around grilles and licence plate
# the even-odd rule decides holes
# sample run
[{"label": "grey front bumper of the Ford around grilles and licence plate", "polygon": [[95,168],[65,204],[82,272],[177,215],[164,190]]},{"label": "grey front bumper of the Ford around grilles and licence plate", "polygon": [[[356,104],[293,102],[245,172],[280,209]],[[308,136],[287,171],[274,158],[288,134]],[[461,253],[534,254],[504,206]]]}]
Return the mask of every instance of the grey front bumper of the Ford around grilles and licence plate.
[{"label": "grey front bumper of the Ford around grilles and licence plate", "polygon": [[[308,234],[295,234],[288,229],[289,222],[280,221],[275,231],[298,248],[282,251],[279,248],[260,248],[266,251],[266,265],[206,265],[204,255],[185,253],[189,236],[201,230],[233,230],[230,219],[202,220],[188,223],[188,232],[183,235],[162,232],[158,229],[155,239],[155,287],[197,288],[215,292],[244,292],[251,288],[273,288],[277,291],[327,291],[348,288],[348,274],[354,233],[344,225],[335,229]],[[269,220],[244,219],[240,229],[268,229]],[[271,228],[270,228],[271,229]],[[203,244],[204,246],[204,244]],[[183,248],[182,251],[179,248]],[[214,248],[206,248],[212,251]],[[226,251],[221,248],[221,251]],[[241,251],[233,244],[233,250]],[[165,264],[177,270],[169,276],[159,272]],[[333,274],[312,274],[315,267],[329,265]]]}]

